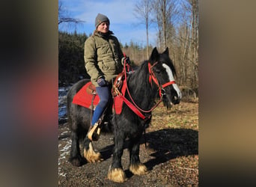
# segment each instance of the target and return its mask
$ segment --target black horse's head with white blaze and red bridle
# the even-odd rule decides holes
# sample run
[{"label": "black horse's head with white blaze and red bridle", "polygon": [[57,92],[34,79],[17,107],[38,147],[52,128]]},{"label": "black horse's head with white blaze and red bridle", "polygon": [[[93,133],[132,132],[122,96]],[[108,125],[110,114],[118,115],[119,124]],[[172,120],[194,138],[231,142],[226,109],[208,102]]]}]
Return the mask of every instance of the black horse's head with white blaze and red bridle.
[{"label": "black horse's head with white blaze and red bridle", "polygon": [[149,79],[161,90],[159,93],[162,95],[162,101],[165,106],[170,107],[171,103],[174,105],[179,104],[181,92],[174,80],[176,70],[169,58],[168,48],[160,54],[155,47],[150,56],[148,66],[150,71]]}]

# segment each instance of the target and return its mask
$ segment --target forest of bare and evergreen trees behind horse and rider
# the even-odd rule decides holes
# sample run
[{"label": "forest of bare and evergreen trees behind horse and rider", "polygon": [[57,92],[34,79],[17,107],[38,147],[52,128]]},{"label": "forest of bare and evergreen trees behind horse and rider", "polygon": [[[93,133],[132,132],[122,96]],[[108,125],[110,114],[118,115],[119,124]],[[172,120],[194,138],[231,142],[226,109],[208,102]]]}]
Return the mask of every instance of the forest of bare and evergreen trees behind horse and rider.
[{"label": "forest of bare and evergreen trees behind horse and rider", "polygon": [[[58,25],[83,24],[83,20],[67,16],[61,2],[58,5]],[[138,41],[121,43],[123,52],[133,66],[149,58],[153,47],[148,41],[150,25],[156,27],[156,47],[169,49],[177,70],[177,84],[183,93],[198,96],[198,0],[140,0],[134,4],[134,15],[144,25],[147,44]],[[89,78],[84,65],[84,43],[91,33],[58,31],[58,85],[73,84]]]}]

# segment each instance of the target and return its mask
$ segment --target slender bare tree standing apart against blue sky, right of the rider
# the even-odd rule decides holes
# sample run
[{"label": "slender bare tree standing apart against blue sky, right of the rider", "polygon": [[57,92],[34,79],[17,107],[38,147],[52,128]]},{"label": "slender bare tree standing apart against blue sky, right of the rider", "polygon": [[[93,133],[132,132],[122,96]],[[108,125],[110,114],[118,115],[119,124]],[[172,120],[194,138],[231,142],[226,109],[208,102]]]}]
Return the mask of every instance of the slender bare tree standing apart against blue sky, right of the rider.
[{"label": "slender bare tree standing apart against blue sky, right of the rider", "polygon": [[134,13],[138,19],[141,19],[141,24],[146,26],[147,31],[147,58],[149,58],[149,42],[148,42],[148,28],[150,25],[150,12],[152,6],[150,0],[140,0],[135,4]]}]

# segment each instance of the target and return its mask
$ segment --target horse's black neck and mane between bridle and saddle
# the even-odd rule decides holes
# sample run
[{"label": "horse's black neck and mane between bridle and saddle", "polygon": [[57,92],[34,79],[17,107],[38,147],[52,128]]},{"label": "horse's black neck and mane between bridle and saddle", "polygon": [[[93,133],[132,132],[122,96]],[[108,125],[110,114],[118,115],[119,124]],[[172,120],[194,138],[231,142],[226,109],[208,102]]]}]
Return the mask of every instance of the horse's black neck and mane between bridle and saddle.
[{"label": "horse's black neck and mane between bridle and saddle", "polygon": [[157,88],[156,85],[151,86],[149,82],[149,72],[146,64],[129,76],[127,85],[129,93],[137,105],[145,110],[153,105]]}]

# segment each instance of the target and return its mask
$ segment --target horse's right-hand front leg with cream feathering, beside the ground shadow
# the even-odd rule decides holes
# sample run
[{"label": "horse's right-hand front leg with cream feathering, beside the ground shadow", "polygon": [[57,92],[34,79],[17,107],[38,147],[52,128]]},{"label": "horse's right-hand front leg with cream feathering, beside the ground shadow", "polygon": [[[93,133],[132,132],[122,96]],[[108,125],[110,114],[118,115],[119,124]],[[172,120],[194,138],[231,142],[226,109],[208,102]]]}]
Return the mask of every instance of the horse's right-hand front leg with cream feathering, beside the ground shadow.
[{"label": "horse's right-hand front leg with cream feathering, beside the ground shadow", "polygon": [[130,140],[129,144],[129,171],[132,174],[142,175],[147,173],[147,167],[139,159],[139,138]]}]

